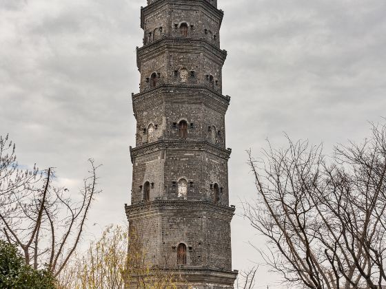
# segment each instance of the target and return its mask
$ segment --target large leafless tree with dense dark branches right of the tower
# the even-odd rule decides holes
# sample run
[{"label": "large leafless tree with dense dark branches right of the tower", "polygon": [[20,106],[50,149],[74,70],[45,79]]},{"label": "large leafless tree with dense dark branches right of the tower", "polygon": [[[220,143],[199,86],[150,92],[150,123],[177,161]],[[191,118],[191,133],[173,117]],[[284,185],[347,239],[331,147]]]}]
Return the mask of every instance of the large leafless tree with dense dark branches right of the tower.
[{"label": "large leafless tree with dense dark branches right of the tower", "polygon": [[363,144],[292,142],[249,164],[256,203],[245,216],[268,239],[261,254],[296,288],[382,288],[386,283],[386,127]]}]

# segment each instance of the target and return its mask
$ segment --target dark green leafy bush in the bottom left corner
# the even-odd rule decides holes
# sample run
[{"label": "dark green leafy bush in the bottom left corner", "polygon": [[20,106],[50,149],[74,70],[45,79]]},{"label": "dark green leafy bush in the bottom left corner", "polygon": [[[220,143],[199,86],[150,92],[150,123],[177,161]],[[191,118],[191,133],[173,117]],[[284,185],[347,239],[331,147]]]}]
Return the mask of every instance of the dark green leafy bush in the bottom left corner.
[{"label": "dark green leafy bush in the bottom left corner", "polygon": [[16,246],[0,239],[0,289],[54,289],[48,270],[27,266]]}]

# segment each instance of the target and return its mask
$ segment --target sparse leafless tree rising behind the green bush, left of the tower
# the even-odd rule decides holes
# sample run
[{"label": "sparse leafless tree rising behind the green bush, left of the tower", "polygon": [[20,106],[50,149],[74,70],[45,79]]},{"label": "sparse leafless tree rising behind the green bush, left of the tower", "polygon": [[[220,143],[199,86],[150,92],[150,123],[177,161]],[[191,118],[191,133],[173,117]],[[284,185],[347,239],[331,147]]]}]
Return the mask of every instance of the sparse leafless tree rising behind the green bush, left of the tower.
[{"label": "sparse leafless tree rising behind the green bush, left of the tower", "polygon": [[90,175],[83,180],[80,194],[71,197],[68,189],[53,185],[52,168],[40,176],[36,167],[32,171],[19,169],[14,146],[7,141],[8,137],[0,138],[1,152],[12,147],[12,153],[0,159],[1,235],[21,248],[26,264],[35,269],[47,266],[57,277],[76,250],[94,196],[99,193],[98,167],[89,160]]}]

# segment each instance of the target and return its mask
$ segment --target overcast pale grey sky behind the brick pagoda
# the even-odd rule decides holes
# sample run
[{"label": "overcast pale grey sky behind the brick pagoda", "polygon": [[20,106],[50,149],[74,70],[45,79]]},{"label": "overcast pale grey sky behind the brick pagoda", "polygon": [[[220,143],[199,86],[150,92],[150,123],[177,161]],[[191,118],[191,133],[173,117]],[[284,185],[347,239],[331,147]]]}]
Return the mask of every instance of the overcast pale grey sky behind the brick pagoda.
[{"label": "overcast pale grey sky behind the brick pagoda", "polygon": [[[89,218],[92,238],[125,224],[139,92],[135,47],[142,45],[145,0],[0,0],[0,134],[17,143],[19,163],[56,167],[73,193],[87,160],[103,164],[103,193]],[[233,264],[261,262],[264,248],[241,217],[253,200],[246,149],[261,155],[267,138],[336,142],[369,135],[386,116],[385,0],[219,0],[225,12],[221,47],[228,51],[223,93],[227,113]],[[96,226],[92,224],[97,223]],[[94,235],[93,235],[94,234]],[[258,286],[285,288],[258,270]]]}]

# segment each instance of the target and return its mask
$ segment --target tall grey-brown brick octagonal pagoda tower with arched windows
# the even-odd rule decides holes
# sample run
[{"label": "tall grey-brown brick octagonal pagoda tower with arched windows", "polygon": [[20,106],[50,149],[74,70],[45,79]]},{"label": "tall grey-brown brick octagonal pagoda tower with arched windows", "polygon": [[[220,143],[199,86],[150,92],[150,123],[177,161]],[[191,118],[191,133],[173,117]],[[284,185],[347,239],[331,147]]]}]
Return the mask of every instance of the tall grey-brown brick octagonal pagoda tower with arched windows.
[{"label": "tall grey-brown brick octagonal pagoda tower with arched windows", "polygon": [[148,0],[137,48],[139,94],[130,227],[152,266],[194,288],[233,288],[225,113],[216,0]]}]

